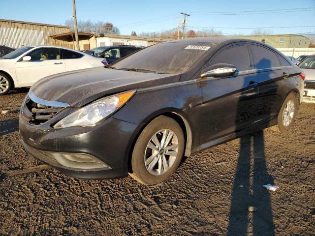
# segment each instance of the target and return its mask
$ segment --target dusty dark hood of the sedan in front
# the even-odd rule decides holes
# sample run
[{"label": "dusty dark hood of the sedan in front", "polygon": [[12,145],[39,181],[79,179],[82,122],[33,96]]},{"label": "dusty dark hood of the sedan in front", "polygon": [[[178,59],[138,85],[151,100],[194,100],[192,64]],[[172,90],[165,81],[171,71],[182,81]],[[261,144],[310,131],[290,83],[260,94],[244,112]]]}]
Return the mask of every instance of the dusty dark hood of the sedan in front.
[{"label": "dusty dark hood of the sedan in front", "polygon": [[81,107],[100,97],[178,82],[180,74],[141,73],[95,67],[45,77],[31,90],[37,98]]}]

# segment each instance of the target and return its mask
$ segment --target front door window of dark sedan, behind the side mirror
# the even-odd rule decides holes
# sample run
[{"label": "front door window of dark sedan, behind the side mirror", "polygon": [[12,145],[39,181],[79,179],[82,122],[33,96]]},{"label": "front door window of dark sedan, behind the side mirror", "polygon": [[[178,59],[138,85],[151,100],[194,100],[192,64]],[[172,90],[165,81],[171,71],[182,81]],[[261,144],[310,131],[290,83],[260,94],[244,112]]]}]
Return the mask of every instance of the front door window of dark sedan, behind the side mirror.
[{"label": "front door window of dark sedan, behind the side mirror", "polygon": [[246,44],[237,44],[225,48],[214,59],[210,65],[217,63],[227,63],[235,65],[238,71],[251,69],[250,54]]}]

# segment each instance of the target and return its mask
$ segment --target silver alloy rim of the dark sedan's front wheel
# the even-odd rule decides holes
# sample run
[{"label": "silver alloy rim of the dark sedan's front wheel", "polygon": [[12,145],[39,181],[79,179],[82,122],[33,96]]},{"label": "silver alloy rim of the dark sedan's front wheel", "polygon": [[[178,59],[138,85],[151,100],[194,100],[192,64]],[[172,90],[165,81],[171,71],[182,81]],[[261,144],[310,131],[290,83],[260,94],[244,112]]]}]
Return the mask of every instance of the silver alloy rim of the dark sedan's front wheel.
[{"label": "silver alloy rim of the dark sedan's front wheel", "polygon": [[178,137],[170,129],[155,133],[145,150],[144,162],[147,171],[155,176],[166,173],[178,156]]}]

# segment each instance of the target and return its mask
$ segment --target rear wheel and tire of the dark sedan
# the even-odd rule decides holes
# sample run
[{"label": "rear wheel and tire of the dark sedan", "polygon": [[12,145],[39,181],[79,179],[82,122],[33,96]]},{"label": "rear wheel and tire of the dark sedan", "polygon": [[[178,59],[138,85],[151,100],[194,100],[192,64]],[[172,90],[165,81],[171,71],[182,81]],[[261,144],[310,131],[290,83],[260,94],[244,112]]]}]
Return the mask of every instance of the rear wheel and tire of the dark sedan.
[{"label": "rear wheel and tire of the dark sedan", "polygon": [[[292,106],[293,104],[293,106]],[[284,100],[278,114],[278,124],[270,127],[271,130],[286,134],[293,125],[297,115],[297,101],[293,93],[290,93]]]}]

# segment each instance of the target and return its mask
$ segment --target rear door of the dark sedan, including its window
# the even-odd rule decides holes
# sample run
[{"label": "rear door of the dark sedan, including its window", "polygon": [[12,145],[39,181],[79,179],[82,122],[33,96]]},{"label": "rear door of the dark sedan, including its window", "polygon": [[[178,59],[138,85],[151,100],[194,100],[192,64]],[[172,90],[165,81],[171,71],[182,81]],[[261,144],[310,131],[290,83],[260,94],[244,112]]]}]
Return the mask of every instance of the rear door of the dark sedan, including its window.
[{"label": "rear door of the dark sedan, including its window", "polygon": [[262,123],[273,118],[282,105],[289,86],[287,68],[291,64],[265,46],[251,43],[250,47],[258,76],[257,107],[260,110],[259,122]]}]

